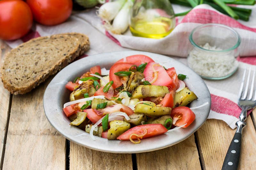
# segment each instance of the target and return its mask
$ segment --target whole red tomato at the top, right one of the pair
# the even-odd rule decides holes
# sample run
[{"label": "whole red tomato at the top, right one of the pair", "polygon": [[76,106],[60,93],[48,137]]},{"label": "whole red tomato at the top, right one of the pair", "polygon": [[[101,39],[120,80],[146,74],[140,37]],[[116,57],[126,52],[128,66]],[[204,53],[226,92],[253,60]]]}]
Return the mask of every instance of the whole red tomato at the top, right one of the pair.
[{"label": "whole red tomato at the top, right one of the pair", "polygon": [[72,0],[27,0],[34,19],[43,25],[57,25],[68,19]]}]

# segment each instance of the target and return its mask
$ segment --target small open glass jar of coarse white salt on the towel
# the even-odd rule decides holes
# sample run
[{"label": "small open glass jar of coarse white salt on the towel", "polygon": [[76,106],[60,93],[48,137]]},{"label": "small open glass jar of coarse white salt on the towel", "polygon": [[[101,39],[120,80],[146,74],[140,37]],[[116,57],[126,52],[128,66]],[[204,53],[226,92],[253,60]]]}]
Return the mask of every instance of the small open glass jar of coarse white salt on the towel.
[{"label": "small open glass jar of coarse white salt on the towel", "polygon": [[238,68],[240,36],[233,29],[221,24],[204,24],[189,35],[193,45],[188,54],[188,66],[202,78],[225,79]]}]

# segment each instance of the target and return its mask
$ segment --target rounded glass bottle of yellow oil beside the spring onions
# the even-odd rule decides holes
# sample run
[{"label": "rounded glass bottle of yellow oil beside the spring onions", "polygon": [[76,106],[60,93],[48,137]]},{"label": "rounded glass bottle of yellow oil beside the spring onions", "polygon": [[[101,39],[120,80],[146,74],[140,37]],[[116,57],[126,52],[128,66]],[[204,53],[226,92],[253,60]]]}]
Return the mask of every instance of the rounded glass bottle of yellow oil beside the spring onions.
[{"label": "rounded glass bottle of yellow oil beside the spring onions", "polygon": [[169,0],[135,0],[130,24],[133,36],[160,39],[172,32],[175,24]]}]

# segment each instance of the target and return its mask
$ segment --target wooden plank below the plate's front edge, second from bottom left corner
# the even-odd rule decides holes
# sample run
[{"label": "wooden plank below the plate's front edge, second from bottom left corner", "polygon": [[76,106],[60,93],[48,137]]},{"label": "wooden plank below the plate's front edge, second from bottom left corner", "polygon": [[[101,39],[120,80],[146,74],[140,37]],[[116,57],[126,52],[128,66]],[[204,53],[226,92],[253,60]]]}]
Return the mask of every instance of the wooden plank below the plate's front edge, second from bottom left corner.
[{"label": "wooden plank below the plate's front edge, second from bottom left corner", "polygon": [[132,169],[132,154],[100,152],[70,142],[70,170]]}]

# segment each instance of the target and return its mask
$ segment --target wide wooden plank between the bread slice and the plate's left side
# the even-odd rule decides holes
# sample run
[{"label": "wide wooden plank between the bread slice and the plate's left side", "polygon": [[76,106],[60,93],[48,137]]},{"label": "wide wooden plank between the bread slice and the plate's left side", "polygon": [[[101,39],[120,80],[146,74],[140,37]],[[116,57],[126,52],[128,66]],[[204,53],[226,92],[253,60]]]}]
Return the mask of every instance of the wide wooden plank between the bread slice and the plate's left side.
[{"label": "wide wooden plank between the bread slice and the plate's left side", "polygon": [[65,169],[65,141],[44,115],[43,95],[51,78],[12,98],[3,169]]}]

